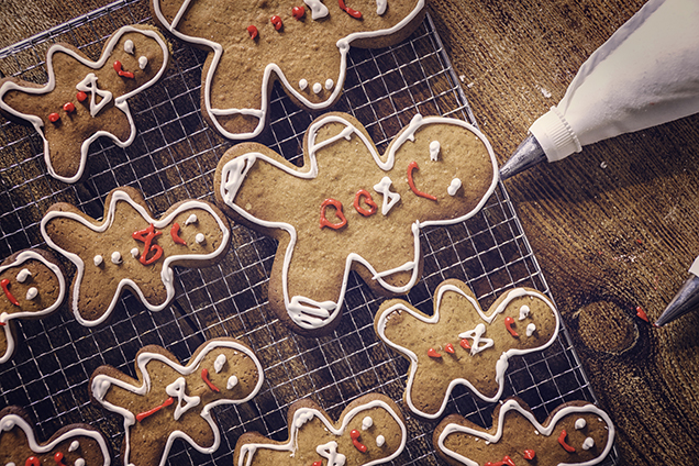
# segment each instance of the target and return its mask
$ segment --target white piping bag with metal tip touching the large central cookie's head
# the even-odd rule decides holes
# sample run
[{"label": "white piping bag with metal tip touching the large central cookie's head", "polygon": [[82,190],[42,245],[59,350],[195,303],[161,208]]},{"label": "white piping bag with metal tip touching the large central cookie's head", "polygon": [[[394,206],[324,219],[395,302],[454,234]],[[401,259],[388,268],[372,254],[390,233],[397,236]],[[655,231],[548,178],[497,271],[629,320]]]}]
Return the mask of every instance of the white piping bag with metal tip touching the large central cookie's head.
[{"label": "white piping bag with metal tip touching the large central cookie's head", "polygon": [[699,112],[699,1],[650,0],[580,66],[500,169],[506,179],[544,159]]}]

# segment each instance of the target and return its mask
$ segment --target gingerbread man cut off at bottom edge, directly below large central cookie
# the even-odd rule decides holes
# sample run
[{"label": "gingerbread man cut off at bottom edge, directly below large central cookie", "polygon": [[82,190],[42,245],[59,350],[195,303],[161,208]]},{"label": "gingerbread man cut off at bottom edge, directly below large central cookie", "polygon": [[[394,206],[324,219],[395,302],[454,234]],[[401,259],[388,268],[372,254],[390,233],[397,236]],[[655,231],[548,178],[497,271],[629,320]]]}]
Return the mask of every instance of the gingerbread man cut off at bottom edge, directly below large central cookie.
[{"label": "gingerbread man cut off at bottom edge, directly below large central cookie", "polygon": [[408,439],[398,407],[386,396],[365,395],[332,422],[311,400],[291,404],[287,415],[289,441],[276,442],[257,432],[241,435],[235,466],[378,465],[398,457]]}]

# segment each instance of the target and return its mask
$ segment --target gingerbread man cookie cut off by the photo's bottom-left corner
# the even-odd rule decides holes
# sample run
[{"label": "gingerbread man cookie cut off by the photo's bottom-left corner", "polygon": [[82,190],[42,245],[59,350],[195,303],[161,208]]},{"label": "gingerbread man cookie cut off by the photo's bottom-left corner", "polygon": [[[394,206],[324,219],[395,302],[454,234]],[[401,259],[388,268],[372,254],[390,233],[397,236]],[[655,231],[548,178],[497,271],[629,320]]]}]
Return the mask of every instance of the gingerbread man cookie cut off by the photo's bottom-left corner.
[{"label": "gingerbread man cookie cut off by the photo's bottom-left corner", "polygon": [[19,407],[0,411],[0,465],[109,466],[104,436],[88,424],[71,424],[38,443],[26,413]]}]

